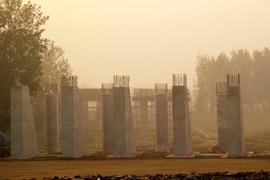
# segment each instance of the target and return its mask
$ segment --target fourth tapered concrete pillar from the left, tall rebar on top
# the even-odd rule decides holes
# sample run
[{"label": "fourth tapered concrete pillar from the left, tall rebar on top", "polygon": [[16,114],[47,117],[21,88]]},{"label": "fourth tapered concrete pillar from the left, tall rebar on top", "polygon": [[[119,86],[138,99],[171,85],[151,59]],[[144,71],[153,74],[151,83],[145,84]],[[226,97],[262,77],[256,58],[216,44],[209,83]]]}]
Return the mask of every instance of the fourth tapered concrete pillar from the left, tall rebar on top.
[{"label": "fourth tapered concrete pillar from the left, tall rebar on top", "polygon": [[192,153],[191,123],[189,118],[186,74],[172,75],[173,155]]}]

